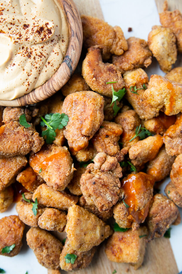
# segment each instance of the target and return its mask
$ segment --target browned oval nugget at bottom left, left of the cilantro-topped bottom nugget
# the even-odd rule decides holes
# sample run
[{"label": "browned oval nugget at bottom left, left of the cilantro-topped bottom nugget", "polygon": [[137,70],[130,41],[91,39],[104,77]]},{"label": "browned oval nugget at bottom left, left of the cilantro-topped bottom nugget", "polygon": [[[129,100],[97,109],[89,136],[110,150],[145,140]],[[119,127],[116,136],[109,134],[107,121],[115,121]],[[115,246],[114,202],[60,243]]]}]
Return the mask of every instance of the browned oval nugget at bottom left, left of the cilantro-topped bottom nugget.
[{"label": "browned oval nugget at bottom left, left of the cilantro-topped bottom nugget", "polygon": [[26,234],[26,241],[41,265],[55,270],[59,268],[63,245],[58,239],[46,230],[31,227]]}]

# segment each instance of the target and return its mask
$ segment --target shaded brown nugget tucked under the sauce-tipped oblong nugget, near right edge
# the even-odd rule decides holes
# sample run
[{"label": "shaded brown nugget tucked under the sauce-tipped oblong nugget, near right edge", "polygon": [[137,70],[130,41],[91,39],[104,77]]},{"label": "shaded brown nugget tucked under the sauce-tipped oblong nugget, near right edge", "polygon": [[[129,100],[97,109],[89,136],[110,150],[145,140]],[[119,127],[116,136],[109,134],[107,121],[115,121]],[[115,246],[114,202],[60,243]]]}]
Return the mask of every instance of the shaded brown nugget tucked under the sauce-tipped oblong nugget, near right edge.
[{"label": "shaded brown nugget tucked under the sauce-tipped oblong nugget, near right edge", "polygon": [[153,176],[156,182],[161,181],[169,175],[174,160],[175,156],[168,155],[163,146],[156,158],[151,160],[147,165],[146,173]]}]

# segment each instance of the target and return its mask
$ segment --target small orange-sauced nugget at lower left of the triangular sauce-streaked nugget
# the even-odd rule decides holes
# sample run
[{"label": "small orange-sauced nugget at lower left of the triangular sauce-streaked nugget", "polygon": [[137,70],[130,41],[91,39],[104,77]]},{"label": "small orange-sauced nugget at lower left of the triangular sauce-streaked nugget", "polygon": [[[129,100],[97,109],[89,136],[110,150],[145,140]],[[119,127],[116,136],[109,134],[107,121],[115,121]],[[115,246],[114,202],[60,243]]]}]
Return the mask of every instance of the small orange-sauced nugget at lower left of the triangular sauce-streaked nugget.
[{"label": "small orange-sauced nugget at lower left of the triangular sauce-streaked nugget", "polygon": [[45,181],[28,166],[25,170],[21,171],[16,177],[16,181],[22,184],[28,191],[34,192],[38,186],[45,183]]}]

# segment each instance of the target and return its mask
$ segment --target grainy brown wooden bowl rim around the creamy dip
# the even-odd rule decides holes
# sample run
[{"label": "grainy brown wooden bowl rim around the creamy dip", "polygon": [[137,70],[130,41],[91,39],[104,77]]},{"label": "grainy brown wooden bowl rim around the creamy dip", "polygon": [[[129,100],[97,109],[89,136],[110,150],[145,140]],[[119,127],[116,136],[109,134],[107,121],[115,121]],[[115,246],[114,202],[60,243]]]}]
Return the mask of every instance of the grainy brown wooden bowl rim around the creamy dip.
[{"label": "grainy brown wooden bowl rim around the creamy dip", "polygon": [[63,63],[55,74],[43,85],[14,100],[0,100],[3,106],[23,106],[40,102],[55,94],[65,85],[73,74],[82,50],[82,23],[77,8],[72,0],[57,0],[65,11],[69,27],[69,43]]}]

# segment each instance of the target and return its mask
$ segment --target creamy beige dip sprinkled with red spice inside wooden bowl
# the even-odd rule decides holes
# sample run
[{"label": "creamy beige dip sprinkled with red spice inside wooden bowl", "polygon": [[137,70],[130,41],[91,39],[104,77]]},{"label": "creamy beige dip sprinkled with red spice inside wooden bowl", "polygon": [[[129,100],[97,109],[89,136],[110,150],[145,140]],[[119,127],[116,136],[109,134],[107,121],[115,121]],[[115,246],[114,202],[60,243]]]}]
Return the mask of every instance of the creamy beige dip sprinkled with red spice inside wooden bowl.
[{"label": "creamy beige dip sprinkled with red spice inside wooden bowl", "polygon": [[0,1],[0,100],[45,83],[68,46],[68,24],[54,0]]}]

